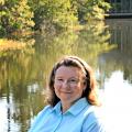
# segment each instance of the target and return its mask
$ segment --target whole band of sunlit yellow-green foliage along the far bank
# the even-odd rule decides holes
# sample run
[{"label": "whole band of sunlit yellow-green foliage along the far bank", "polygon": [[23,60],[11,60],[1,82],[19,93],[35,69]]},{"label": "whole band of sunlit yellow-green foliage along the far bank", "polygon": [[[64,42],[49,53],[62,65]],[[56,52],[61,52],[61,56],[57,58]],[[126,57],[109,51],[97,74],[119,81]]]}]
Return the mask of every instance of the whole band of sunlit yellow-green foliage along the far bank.
[{"label": "whole band of sunlit yellow-green foliage along the far bank", "polygon": [[105,0],[0,0],[0,36],[34,28],[41,31],[73,29],[89,20],[103,20]]}]

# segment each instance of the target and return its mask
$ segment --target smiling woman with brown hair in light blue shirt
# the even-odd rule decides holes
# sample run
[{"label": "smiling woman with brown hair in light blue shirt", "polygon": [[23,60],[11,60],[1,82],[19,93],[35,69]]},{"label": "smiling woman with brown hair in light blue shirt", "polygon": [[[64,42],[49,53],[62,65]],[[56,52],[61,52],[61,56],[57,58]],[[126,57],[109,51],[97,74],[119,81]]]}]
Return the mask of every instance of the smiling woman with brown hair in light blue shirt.
[{"label": "smiling woman with brown hair in light blue shirt", "polygon": [[50,77],[50,106],[36,117],[30,132],[106,132],[95,112],[99,101],[91,67],[81,58],[66,56]]}]

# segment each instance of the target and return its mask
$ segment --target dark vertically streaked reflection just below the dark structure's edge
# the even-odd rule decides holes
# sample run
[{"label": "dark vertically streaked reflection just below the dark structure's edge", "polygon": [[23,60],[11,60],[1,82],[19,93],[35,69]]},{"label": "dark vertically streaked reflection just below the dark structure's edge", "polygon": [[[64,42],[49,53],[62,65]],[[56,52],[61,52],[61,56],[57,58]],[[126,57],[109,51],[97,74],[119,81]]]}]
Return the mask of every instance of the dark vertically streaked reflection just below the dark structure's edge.
[{"label": "dark vertically streaked reflection just below the dark structure's edge", "polygon": [[107,20],[110,25],[110,43],[118,45],[120,52],[132,56],[132,19]]}]

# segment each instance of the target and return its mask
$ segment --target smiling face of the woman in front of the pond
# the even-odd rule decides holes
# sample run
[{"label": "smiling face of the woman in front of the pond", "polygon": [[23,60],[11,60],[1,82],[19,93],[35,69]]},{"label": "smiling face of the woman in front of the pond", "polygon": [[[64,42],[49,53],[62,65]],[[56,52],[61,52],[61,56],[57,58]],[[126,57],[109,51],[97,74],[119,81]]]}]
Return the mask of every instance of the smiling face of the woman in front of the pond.
[{"label": "smiling face of the woman in front of the pond", "polygon": [[63,103],[73,105],[82,95],[86,84],[81,69],[74,66],[61,66],[55,74],[55,94]]}]

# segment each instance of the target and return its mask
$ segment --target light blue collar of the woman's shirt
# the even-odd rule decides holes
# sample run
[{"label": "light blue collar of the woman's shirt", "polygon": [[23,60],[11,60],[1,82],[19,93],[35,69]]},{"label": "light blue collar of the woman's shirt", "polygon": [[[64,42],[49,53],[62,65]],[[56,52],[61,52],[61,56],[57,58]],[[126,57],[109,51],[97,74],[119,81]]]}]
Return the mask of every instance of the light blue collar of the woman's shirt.
[{"label": "light blue collar of the woman's shirt", "polygon": [[[86,98],[80,98],[64,114],[72,113],[73,116],[77,116],[87,106],[89,106],[87,99]],[[56,111],[58,114],[62,114],[62,111],[61,111],[61,101],[53,108],[53,111]]]}]

